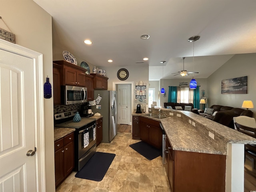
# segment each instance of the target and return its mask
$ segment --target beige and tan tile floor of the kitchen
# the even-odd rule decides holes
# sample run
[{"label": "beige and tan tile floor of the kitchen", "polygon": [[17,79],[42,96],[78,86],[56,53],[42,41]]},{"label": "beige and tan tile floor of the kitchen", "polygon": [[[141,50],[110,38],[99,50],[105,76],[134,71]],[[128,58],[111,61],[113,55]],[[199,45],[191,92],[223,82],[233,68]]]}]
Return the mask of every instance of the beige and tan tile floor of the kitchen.
[{"label": "beige and tan tile floor of the kitchen", "polygon": [[99,152],[116,154],[102,181],[76,178],[72,172],[56,192],[170,192],[162,158],[150,161],[130,148],[139,141],[131,133],[118,132],[110,144],[97,147]]}]

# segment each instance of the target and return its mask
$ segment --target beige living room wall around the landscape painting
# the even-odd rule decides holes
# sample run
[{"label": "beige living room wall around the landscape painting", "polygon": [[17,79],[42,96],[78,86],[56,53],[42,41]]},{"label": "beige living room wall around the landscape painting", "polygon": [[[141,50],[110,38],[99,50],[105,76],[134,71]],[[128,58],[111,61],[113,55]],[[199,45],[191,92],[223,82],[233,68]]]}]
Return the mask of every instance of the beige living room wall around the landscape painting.
[{"label": "beige living room wall around the landscape painting", "polygon": [[[237,54],[221,66],[208,79],[209,106],[213,104],[241,108],[244,100],[254,103],[254,117],[256,117],[256,53]],[[221,94],[221,81],[248,76],[248,94]]]}]

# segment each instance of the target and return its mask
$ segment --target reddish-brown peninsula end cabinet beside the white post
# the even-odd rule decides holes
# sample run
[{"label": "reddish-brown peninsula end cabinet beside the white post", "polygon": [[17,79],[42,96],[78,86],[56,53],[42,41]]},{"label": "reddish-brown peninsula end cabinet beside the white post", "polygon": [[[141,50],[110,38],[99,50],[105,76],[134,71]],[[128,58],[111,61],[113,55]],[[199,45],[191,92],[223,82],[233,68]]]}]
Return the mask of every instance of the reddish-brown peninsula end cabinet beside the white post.
[{"label": "reddish-brown peninsula end cabinet beside the white post", "polygon": [[166,138],[165,162],[172,192],[225,192],[225,155],[173,150]]}]

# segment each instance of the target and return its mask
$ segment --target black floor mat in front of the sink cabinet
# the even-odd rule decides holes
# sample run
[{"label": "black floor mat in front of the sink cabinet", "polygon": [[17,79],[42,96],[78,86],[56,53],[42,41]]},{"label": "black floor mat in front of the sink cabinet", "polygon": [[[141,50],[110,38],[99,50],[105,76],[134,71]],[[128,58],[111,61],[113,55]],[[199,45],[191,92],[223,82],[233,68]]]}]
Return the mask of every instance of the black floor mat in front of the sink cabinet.
[{"label": "black floor mat in front of the sink cabinet", "polygon": [[138,143],[134,143],[130,145],[131,148],[136,150],[139,154],[147,158],[148,160],[152,160],[161,155],[161,150],[154,148],[153,146],[140,141]]}]

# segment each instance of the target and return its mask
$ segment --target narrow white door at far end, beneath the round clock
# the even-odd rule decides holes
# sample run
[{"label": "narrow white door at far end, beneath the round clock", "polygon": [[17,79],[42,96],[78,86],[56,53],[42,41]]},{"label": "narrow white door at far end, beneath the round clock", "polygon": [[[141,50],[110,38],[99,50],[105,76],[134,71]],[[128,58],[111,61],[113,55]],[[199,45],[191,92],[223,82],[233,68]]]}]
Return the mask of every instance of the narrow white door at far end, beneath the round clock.
[{"label": "narrow white door at far end, beneath the round clock", "polygon": [[119,124],[129,124],[129,84],[118,85]]}]

